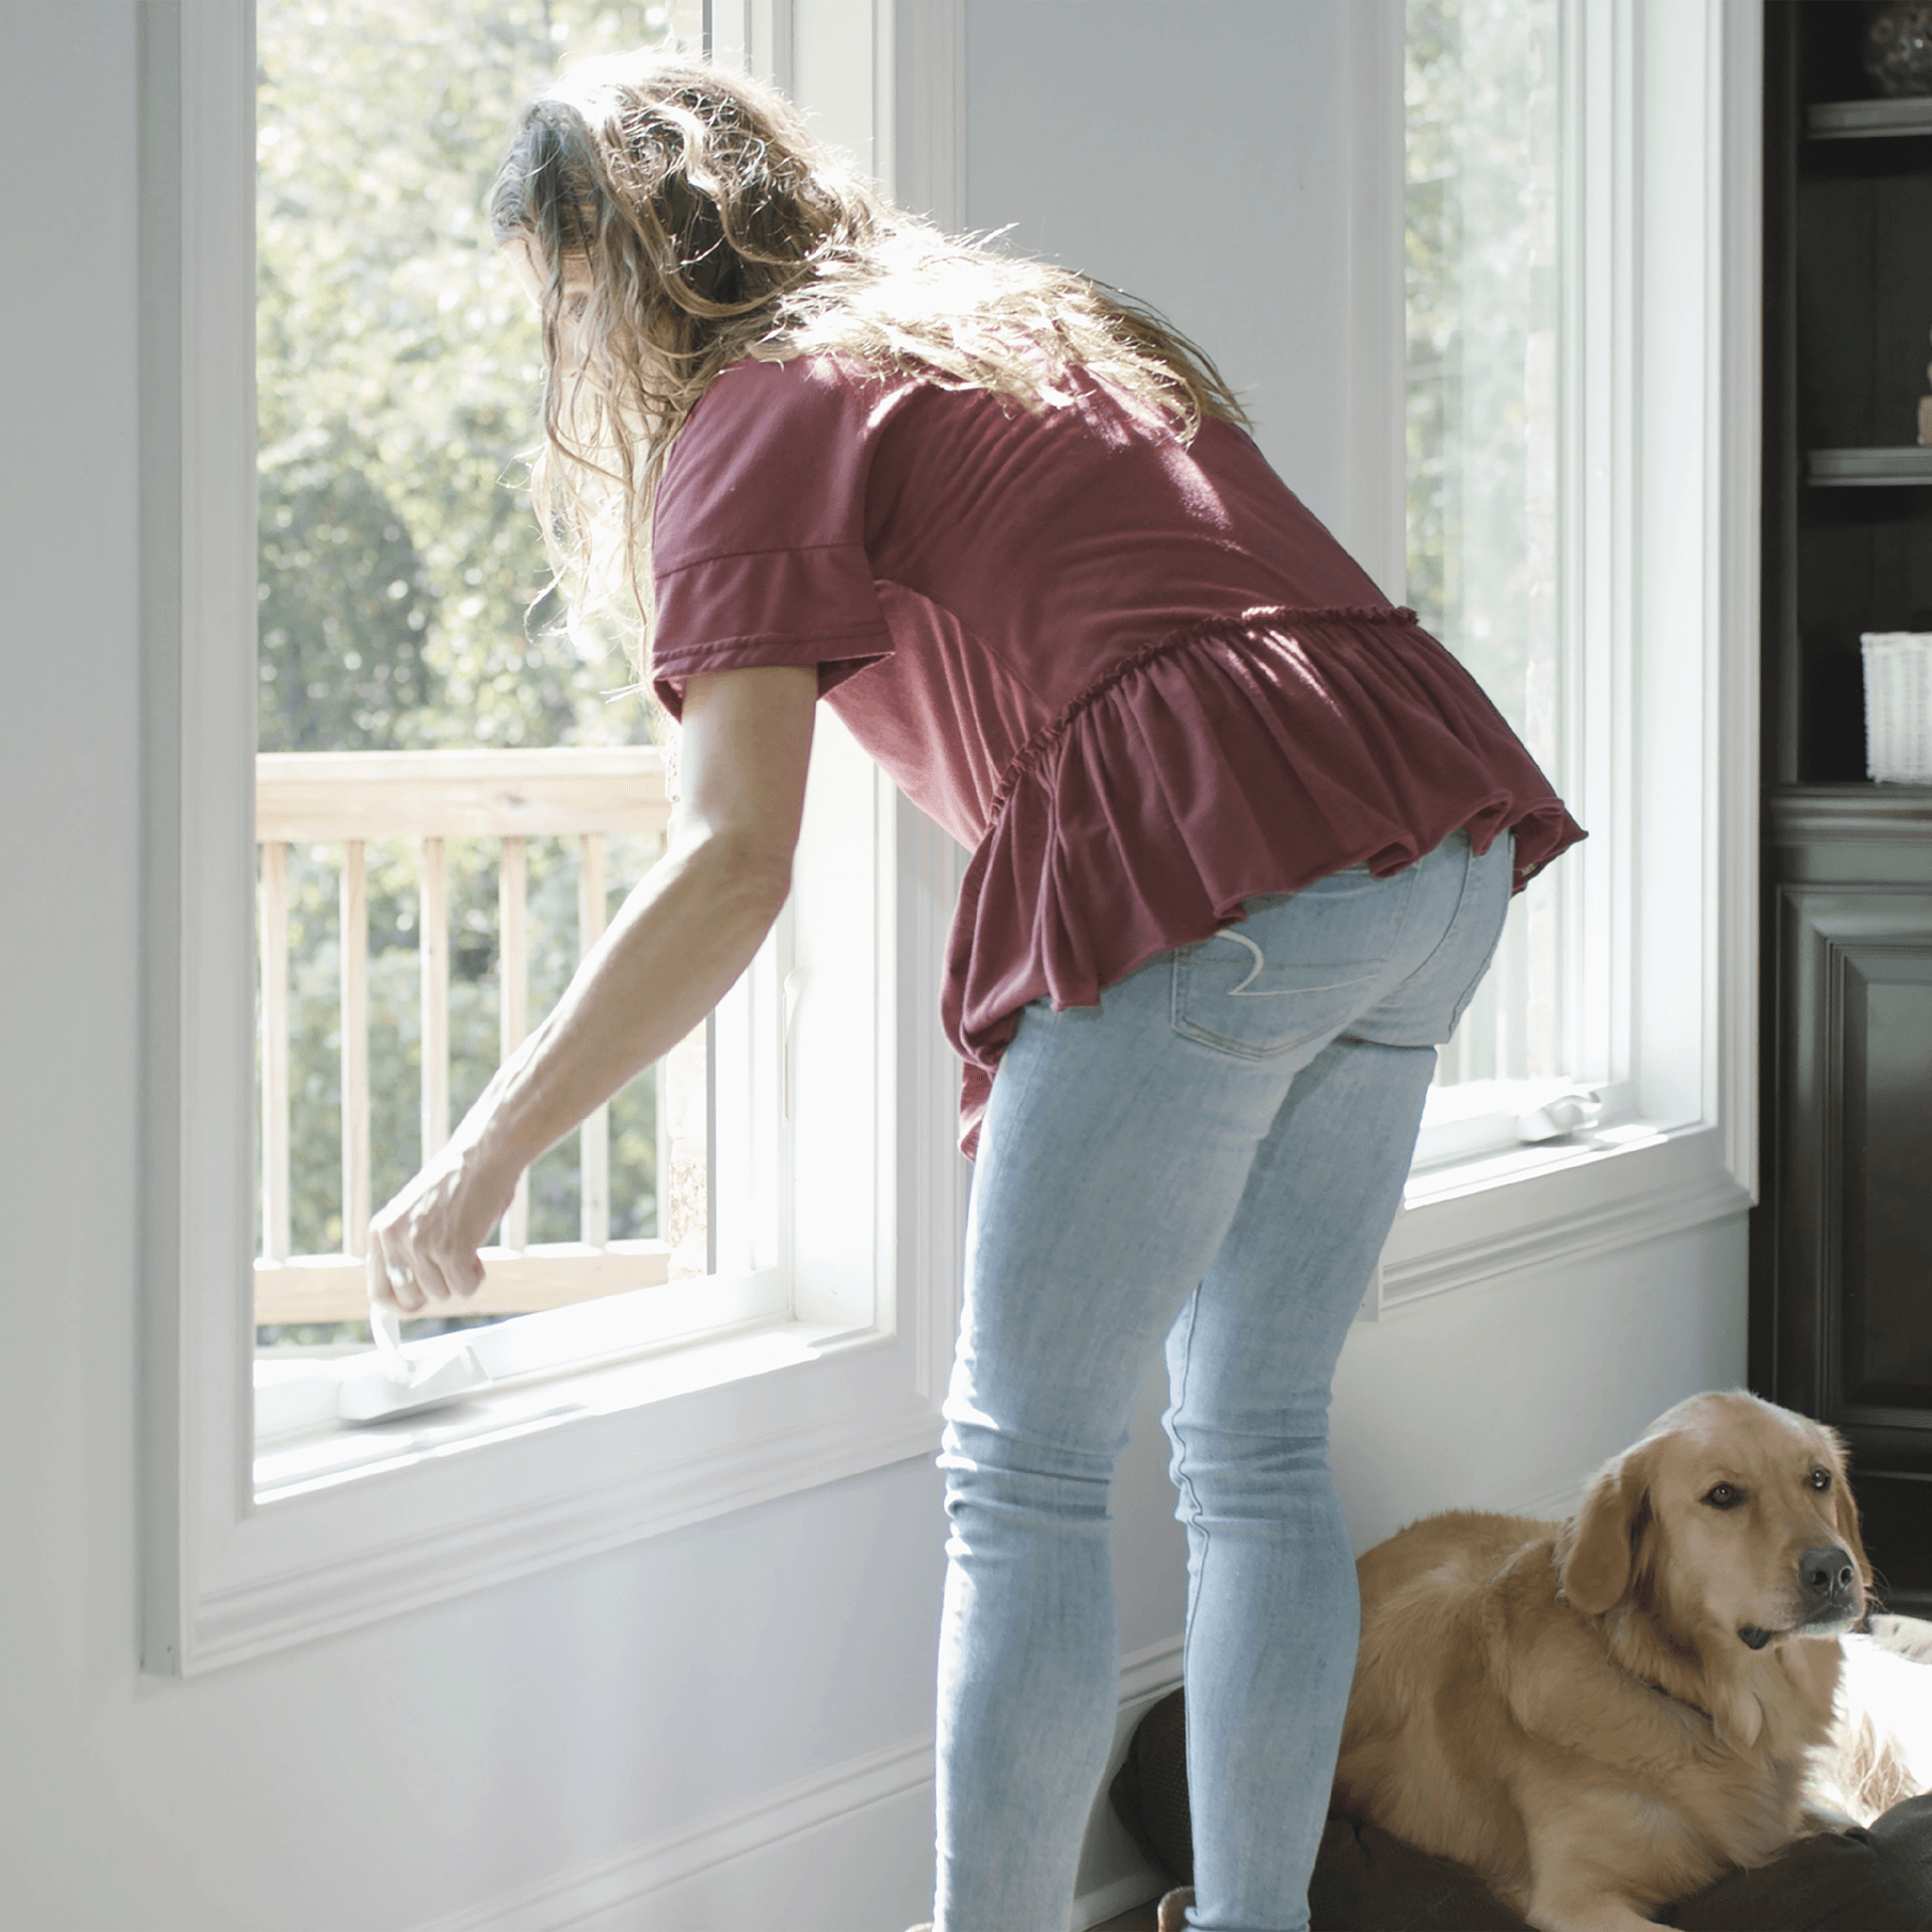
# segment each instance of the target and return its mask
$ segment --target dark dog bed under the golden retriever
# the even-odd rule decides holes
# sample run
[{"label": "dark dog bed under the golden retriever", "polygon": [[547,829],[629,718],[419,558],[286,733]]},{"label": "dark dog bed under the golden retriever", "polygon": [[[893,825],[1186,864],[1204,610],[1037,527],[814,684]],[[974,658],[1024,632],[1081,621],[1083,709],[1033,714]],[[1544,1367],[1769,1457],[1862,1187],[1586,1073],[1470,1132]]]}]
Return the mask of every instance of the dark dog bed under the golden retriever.
[{"label": "dark dog bed under the golden retriever", "polygon": [[[1194,1878],[1182,1692],[1134,1731],[1109,1797],[1121,1824],[1175,1884]],[[1461,1864],[1376,1826],[1329,1818],[1308,1886],[1314,1932],[1505,1932],[1522,1920]],[[1731,1872],[1660,1922],[1681,1932],[1926,1932],[1932,1926],[1932,1797],[1868,1830],[1808,1837],[1754,1872]]]}]

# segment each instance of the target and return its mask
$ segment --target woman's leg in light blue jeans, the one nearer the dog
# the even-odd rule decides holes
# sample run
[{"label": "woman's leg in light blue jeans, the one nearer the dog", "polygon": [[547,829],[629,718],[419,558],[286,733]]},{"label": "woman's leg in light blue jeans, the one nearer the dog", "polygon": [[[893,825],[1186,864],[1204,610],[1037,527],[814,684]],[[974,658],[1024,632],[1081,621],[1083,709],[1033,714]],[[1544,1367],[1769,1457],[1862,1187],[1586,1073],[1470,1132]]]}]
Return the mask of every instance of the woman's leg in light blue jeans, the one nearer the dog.
[{"label": "woman's leg in light blue jeans, the one nearer the dog", "polygon": [[1337,1039],[1296,1080],[1167,1339],[1188,1528],[1194,1911],[1300,1932],[1354,1671],[1329,1381],[1401,1200],[1430,1047]]}]

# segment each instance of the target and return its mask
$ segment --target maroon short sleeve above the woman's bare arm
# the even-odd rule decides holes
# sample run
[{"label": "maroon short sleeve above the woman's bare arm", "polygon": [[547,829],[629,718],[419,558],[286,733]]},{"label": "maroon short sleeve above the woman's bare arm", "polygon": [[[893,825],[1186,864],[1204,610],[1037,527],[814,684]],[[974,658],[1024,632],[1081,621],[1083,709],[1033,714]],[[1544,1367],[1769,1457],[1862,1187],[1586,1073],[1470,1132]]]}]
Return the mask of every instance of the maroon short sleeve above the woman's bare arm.
[{"label": "maroon short sleeve above the woman's bare arm", "polygon": [[815,665],[823,696],[891,655],[866,554],[875,413],[823,357],[736,363],[692,412],[651,529],[651,680],[674,717],[701,672]]}]

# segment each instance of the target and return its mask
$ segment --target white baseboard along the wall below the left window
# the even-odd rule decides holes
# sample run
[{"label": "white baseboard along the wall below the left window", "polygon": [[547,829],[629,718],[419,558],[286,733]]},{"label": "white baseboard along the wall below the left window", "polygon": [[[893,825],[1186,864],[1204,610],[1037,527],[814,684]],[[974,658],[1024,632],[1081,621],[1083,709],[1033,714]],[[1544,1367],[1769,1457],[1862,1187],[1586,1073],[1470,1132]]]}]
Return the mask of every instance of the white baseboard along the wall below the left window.
[{"label": "white baseboard along the wall below the left window", "polygon": [[[1105,1781],[1148,1706],[1179,1683],[1179,1638],[1121,1662]],[[1080,1859],[1074,1932],[1165,1884],[1113,1818],[1105,1781]],[[931,1785],[933,1741],[912,1737],[417,1932],[904,1932],[931,1911]]]}]

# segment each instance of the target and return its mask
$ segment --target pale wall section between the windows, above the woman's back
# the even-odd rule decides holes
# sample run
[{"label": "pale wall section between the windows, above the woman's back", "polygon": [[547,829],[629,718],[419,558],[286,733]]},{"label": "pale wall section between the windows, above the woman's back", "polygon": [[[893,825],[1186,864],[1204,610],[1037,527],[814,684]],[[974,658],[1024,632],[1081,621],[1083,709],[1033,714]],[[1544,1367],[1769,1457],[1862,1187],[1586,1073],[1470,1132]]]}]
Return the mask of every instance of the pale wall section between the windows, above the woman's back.
[{"label": "pale wall section between the windows, above the woman's back", "polygon": [[1269,462],[1356,547],[1352,485],[1374,437],[1354,433],[1370,400],[1354,357],[1368,319],[1350,313],[1370,145],[1356,62],[1381,10],[1352,12],[970,0],[964,218],[1159,307],[1240,394]]}]

